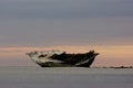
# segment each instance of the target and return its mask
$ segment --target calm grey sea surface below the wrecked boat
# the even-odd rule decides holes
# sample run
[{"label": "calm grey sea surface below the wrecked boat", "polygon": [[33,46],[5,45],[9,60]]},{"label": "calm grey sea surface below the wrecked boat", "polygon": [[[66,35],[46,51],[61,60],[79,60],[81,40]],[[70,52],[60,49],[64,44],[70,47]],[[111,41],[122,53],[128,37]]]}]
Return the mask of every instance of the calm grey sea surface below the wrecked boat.
[{"label": "calm grey sea surface below the wrecked boat", "polygon": [[133,68],[0,67],[0,88],[133,88]]}]

